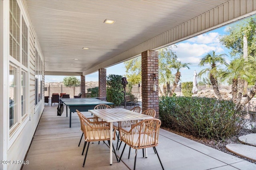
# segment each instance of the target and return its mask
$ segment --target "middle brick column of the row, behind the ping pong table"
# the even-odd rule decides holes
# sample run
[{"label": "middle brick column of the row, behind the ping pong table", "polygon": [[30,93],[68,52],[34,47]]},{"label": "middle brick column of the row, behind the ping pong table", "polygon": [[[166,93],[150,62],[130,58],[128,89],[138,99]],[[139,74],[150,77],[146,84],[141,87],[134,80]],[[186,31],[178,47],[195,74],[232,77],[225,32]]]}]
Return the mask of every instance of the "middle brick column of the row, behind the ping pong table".
[{"label": "middle brick column of the row, behind the ping pong table", "polygon": [[105,68],[99,69],[99,96],[98,97],[106,97],[107,96],[107,70]]}]

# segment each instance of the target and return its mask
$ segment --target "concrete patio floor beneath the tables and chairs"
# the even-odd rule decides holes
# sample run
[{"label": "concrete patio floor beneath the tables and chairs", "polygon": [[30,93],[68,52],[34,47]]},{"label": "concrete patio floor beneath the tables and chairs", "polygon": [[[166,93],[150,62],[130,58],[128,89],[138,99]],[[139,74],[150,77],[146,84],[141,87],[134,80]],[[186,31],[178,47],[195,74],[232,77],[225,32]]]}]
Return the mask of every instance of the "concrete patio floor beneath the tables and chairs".
[{"label": "concrete patio floor beneath the tables and chairs", "polygon": [[[69,112],[69,110],[68,110]],[[90,116],[90,113],[83,112]],[[126,147],[122,162],[117,162],[113,153],[113,164],[109,165],[109,148],[103,142],[100,145],[91,143],[85,167],[82,167],[84,156],[78,143],[82,132],[80,121],[76,113],[72,113],[72,127],[69,127],[69,117],[66,108],[62,116],[57,116],[57,105],[46,106],[22,170],[128,170],[133,169],[135,149]],[[116,148],[116,142],[114,146]],[[117,150],[118,157],[124,144]],[[254,170],[256,164],[226,154],[190,139],[160,129],[159,145],[156,147],[165,170]],[[138,150],[136,161],[137,170],[160,170],[161,165],[154,150],[148,149],[148,158],[142,157],[142,150]]]}]

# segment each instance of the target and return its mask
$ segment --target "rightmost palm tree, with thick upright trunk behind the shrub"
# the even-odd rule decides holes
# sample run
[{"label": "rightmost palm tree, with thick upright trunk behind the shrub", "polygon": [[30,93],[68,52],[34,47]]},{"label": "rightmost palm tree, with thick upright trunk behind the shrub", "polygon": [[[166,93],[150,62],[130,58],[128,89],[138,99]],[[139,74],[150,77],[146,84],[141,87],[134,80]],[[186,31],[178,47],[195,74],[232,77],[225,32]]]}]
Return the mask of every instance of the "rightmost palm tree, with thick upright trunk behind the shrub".
[{"label": "rightmost palm tree, with thick upright trunk behind the shrub", "polygon": [[245,81],[250,81],[250,74],[244,70],[245,61],[243,58],[235,59],[226,64],[227,70],[220,72],[220,77],[232,78],[232,100],[236,106],[240,106]]}]

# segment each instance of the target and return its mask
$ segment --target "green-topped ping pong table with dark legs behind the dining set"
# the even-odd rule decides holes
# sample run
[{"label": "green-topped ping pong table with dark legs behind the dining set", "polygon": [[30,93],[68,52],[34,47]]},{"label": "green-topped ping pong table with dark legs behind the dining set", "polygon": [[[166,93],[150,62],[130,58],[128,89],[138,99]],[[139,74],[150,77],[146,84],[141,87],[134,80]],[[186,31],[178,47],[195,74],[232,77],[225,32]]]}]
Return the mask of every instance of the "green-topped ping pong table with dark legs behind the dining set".
[{"label": "green-topped ping pong table with dark legs behind the dining set", "polygon": [[97,98],[73,98],[73,99],[61,99],[63,104],[66,105],[66,114],[68,117],[68,108],[69,111],[69,127],[71,127],[71,113],[76,112],[76,109],[79,111],[88,111],[90,109],[94,109],[98,104],[107,104],[113,105],[114,103],[106,102],[99,100]]}]

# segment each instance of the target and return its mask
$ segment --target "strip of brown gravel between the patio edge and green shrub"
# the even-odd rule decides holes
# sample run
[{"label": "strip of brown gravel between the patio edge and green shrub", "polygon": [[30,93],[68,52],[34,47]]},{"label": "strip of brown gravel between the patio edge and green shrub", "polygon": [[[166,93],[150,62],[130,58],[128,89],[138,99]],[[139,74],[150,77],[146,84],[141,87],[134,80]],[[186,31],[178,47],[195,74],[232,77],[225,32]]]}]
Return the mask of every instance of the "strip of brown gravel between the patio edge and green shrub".
[{"label": "strip of brown gravel between the patio edge and green shrub", "polygon": [[[161,127],[162,128],[162,127]],[[226,140],[221,140],[221,141],[216,141],[216,140],[210,140],[210,139],[205,139],[205,138],[196,138],[192,135],[188,135],[186,133],[181,133],[181,132],[177,132],[177,131],[173,131],[171,129],[168,129],[168,128],[162,128],[162,129],[165,129],[167,131],[170,131],[172,133],[175,133],[177,135],[180,135],[180,136],[183,136],[183,137],[186,137],[188,139],[191,139],[193,141],[196,141],[198,143],[202,143],[208,147],[212,147],[214,149],[218,149],[222,152],[225,152],[227,154],[231,154],[233,156],[236,156],[238,158],[241,158],[241,159],[244,159],[244,160],[247,160],[248,162],[252,162],[254,164],[256,164],[256,161],[253,161],[253,160],[249,160],[247,158],[243,158],[241,156],[238,156],[232,152],[229,152],[227,149],[226,149],[226,145],[228,144],[231,144],[231,143],[239,143],[241,144],[239,141],[238,141],[238,137],[242,136],[242,135],[247,135],[247,134],[250,134],[250,133],[255,133],[255,132],[252,132],[252,130],[250,129],[242,129],[237,135],[229,138],[229,139],[226,139]]]}]

